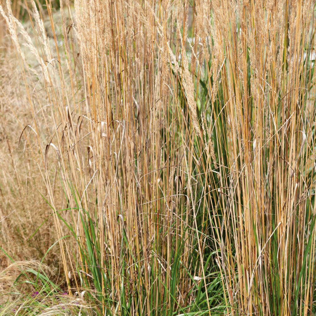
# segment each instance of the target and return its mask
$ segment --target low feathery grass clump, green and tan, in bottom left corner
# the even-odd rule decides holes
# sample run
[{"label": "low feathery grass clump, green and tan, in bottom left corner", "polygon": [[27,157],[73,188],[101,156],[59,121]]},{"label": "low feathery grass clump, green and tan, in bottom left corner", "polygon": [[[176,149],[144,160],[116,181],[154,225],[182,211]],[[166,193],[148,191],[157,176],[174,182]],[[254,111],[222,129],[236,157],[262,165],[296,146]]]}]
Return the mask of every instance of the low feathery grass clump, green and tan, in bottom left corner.
[{"label": "low feathery grass clump, green and tan, in bottom left corner", "polygon": [[63,292],[50,281],[53,273],[38,260],[15,261],[2,269],[0,315],[92,315],[93,308],[98,310],[85,300],[86,291]]}]

